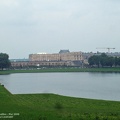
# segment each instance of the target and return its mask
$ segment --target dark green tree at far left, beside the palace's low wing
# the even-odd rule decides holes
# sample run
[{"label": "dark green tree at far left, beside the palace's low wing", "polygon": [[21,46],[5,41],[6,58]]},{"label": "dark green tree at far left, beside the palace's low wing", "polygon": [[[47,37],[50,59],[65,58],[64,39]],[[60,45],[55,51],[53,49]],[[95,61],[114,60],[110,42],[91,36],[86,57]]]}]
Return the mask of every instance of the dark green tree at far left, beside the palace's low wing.
[{"label": "dark green tree at far left, beside the palace's low wing", "polygon": [[0,53],[0,69],[9,68],[10,65],[8,54]]}]

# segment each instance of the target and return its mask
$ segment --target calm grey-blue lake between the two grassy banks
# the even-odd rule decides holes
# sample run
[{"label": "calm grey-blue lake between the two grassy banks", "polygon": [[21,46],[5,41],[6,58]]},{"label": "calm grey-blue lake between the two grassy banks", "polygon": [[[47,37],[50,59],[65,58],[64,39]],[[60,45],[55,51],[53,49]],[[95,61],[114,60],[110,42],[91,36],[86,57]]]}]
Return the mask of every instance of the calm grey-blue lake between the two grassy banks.
[{"label": "calm grey-blue lake between the two grassy banks", "polygon": [[120,101],[120,73],[16,73],[0,75],[12,94],[54,93]]}]

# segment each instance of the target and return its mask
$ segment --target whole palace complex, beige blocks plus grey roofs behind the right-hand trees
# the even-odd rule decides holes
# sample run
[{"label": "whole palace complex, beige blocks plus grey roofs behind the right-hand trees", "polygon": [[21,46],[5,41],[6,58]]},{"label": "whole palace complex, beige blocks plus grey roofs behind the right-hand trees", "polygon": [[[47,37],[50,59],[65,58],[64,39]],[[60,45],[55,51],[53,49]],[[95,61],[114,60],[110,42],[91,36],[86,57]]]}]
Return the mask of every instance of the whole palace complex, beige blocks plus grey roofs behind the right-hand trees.
[{"label": "whole palace complex, beige blocks plus grey roofs behind the right-hand trees", "polygon": [[[112,57],[120,57],[120,52],[105,54]],[[10,61],[13,68],[54,66],[87,67],[89,65],[88,59],[93,55],[101,55],[101,53],[70,52],[69,50],[60,50],[59,53],[36,53],[30,54],[29,59],[11,59]]]}]

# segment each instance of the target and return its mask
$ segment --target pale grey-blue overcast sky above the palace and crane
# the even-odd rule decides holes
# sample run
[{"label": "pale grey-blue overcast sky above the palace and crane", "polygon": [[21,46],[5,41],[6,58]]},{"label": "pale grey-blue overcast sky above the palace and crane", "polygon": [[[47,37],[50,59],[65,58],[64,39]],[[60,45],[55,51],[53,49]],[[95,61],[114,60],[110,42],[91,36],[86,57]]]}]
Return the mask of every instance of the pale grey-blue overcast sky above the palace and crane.
[{"label": "pale grey-blue overcast sky above the palace and crane", "polygon": [[0,0],[0,52],[120,52],[120,0]]}]

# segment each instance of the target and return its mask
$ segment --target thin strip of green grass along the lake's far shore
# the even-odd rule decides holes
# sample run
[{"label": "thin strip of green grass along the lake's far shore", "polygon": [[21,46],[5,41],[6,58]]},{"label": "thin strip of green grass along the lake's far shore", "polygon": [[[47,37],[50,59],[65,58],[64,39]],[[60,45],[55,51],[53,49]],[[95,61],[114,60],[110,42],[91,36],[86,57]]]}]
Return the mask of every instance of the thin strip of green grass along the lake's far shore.
[{"label": "thin strip of green grass along the lake's far shore", "polygon": [[0,74],[43,72],[120,72],[120,68],[44,68],[30,70],[4,70]]}]

